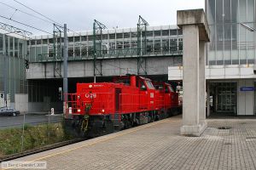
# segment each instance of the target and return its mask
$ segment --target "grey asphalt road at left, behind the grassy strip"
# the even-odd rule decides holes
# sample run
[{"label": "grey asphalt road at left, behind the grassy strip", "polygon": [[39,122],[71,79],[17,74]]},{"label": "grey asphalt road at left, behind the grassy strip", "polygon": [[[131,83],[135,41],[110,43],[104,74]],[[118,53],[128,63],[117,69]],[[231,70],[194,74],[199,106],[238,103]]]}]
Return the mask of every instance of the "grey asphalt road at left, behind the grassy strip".
[{"label": "grey asphalt road at left, behind the grassy strip", "polygon": [[[0,116],[0,128],[7,127],[21,127],[24,122],[24,116]],[[61,114],[55,116],[48,115],[33,115],[27,114],[25,116],[25,123],[30,125],[37,125],[43,122],[61,122]]]}]

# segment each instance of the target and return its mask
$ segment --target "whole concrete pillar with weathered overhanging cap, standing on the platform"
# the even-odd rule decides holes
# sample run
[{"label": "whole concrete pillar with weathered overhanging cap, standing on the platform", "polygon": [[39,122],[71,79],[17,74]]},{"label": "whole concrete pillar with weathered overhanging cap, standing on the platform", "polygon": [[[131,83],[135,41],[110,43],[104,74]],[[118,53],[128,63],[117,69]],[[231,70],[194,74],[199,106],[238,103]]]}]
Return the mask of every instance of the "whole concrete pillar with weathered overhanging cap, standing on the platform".
[{"label": "whole concrete pillar with weathered overhanging cap, standing on the platform", "polygon": [[200,136],[206,122],[206,42],[209,28],[203,9],[177,11],[183,28],[183,126],[181,134]]}]

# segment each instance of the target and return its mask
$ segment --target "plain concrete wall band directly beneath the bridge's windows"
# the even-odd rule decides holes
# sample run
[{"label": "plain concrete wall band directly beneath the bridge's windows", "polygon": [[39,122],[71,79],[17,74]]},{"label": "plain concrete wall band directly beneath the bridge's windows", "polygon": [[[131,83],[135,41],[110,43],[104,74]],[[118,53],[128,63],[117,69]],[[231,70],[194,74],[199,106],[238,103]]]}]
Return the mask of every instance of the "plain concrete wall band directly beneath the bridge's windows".
[{"label": "plain concrete wall band directly beneath the bridge's windows", "polygon": [[[146,71],[148,75],[163,75],[168,73],[168,66],[182,65],[182,57],[174,56],[155,56],[145,57]],[[100,64],[97,63],[97,67]],[[26,73],[27,79],[54,78],[54,64],[49,63],[30,63],[30,71]],[[62,63],[60,65],[61,75],[63,72]],[[141,70],[143,71],[143,70]],[[127,73],[137,74],[137,58],[125,59],[103,59],[102,76],[111,77],[125,75]],[[55,75],[58,75],[55,72]],[[79,60],[68,62],[68,77],[93,77],[93,61]],[[58,77],[58,76],[57,76]]]}]

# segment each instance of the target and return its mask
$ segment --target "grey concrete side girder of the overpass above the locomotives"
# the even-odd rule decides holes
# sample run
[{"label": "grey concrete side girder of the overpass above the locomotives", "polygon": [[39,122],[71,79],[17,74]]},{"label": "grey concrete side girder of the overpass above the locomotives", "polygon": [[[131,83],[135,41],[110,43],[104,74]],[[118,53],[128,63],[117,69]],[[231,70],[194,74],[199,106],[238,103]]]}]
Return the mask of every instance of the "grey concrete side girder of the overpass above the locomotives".
[{"label": "grey concrete side girder of the overpass above the locomotives", "polygon": [[[99,71],[97,77],[137,74],[137,59],[137,57],[97,59],[96,65]],[[181,66],[182,54],[143,56],[142,60],[141,75],[146,75],[146,73],[149,76],[165,75],[167,79],[168,66]],[[69,78],[93,77],[93,66],[93,59],[69,59],[67,75]],[[26,78],[28,80],[62,78],[62,72],[61,60],[44,60],[30,63]]]}]

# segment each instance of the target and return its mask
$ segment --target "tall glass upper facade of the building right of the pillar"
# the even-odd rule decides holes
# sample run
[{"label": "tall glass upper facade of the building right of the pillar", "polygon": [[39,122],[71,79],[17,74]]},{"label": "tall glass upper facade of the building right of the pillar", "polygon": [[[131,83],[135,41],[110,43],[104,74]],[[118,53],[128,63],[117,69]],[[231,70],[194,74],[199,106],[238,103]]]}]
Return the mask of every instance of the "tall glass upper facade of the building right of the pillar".
[{"label": "tall glass upper facade of the building right of the pillar", "polygon": [[207,65],[254,64],[255,0],[206,0],[211,31]]}]

